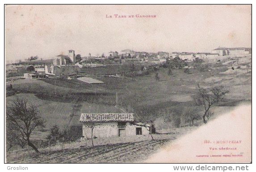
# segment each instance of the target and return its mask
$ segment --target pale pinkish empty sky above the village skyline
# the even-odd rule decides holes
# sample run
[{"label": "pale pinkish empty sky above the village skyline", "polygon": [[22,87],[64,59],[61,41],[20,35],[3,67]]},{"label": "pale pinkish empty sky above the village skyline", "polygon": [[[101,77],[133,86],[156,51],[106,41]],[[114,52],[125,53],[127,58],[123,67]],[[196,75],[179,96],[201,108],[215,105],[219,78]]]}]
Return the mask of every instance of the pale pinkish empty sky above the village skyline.
[{"label": "pale pinkish empty sky above the village skyline", "polygon": [[251,5],[7,5],[5,59],[50,59],[67,55],[70,49],[81,56],[100,56],[126,48],[210,52],[219,46],[251,47],[251,9]]}]

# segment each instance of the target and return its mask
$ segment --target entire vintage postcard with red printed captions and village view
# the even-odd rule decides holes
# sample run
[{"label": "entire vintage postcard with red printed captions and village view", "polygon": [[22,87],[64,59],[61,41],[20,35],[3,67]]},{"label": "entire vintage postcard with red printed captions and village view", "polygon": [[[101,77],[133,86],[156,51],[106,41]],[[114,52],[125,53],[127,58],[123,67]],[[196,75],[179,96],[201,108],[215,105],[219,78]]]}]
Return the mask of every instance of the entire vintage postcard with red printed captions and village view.
[{"label": "entire vintage postcard with red printed captions and village view", "polygon": [[251,4],[5,5],[4,27],[5,163],[252,162]]}]

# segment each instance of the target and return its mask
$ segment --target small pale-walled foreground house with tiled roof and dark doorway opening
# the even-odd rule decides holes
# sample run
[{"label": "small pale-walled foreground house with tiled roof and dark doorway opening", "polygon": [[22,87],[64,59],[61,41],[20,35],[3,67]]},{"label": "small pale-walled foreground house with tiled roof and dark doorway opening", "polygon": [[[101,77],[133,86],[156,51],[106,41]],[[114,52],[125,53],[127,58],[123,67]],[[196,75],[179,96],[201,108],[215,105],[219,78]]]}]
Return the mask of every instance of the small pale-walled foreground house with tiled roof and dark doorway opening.
[{"label": "small pale-walled foreground house with tiled roof and dark doorway opening", "polygon": [[91,138],[92,130],[88,125],[94,124],[93,137],[148,135],[147,126],[136,125],[133,113],[82,113],[83,136]]}]

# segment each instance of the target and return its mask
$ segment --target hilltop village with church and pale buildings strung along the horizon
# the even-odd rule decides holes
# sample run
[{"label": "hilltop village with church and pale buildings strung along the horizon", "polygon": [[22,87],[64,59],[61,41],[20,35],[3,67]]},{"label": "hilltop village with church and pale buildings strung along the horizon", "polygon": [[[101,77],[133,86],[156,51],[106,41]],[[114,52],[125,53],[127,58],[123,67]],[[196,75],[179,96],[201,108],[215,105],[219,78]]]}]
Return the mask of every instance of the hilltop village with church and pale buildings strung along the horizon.
[{"label": "hilltop village with church and pale buildings strung along the horizon", "polygon": [[[106,65],[119,64],[145,64],[145,66],[165,64],[167,60],[183,60],[184,67],[189,63],[202,60],[207,63],[218,62],[252,54],[252,48],[216,48],[211,53],[204,52],[135,52],[130,49],[121,52],[110,51],[106,55],[82,57],[76,55],[74,50],[68,50],[67,55],[57,55],[49,60],[37,60],[30,58],[25,62],[6,65],[6,76],[21,76],[25,78],[36,78],[46,76],[72,76],[83,72],[80,68],[100,67]],[[33,57],[33,56],[32,56]],[[33,59],[33,60],[31,60]],[[29,66],[33,66],[33,71],[26,71]],[[116,73],[117,74],[117,73]]]}]

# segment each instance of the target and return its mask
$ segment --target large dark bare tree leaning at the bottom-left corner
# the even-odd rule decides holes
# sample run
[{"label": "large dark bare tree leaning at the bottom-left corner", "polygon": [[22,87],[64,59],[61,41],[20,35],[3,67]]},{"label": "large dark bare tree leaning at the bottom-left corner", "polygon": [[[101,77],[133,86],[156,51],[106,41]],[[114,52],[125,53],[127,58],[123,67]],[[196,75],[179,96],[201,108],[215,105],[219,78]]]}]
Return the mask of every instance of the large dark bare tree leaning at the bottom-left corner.
[{"label": "large dark bare tree leaning at the bottom-left corner", "polygon": [[[13,105],[7,109],[7,120],[12,126],[12,130],[19,133],[20,139],[39,152],[35,145],[30,141],[30,135],[37,127],[45,127],[45,120],[39,116],[38,109],[34,105],[27,105],[27,100],[17,98]],[[9,129],[9,128],[7,128]]]}]

